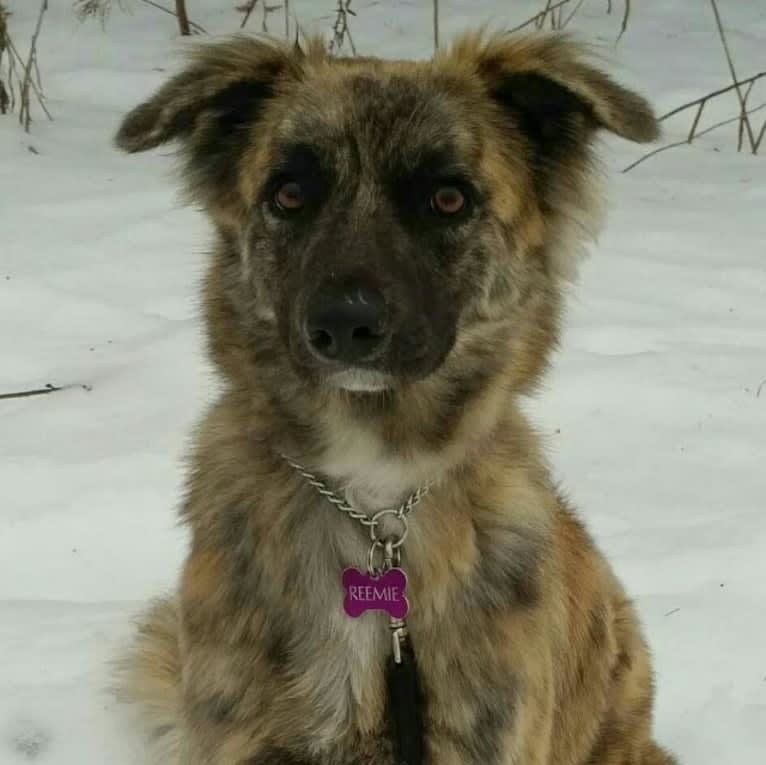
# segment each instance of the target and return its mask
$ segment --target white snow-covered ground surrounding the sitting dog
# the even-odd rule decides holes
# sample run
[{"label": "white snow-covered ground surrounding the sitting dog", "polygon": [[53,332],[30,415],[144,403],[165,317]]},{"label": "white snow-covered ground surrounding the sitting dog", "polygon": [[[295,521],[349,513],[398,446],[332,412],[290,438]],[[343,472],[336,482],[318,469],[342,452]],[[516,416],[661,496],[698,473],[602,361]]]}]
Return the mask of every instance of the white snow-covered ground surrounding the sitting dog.
[{"label": "white snow-covered ground surrounding the sitting dog", "polygon": [[[26,43],[38,4],[8,4]],[[236,27],[234,4],[189,2],[215,32]],[[0,764],[138,765],[102,691],[105,662],[184,549],[180,457],[214,386],[195,319],[206,228],[178,205],[167,159],[110,146],[121,113],[173,66],[173,19],[129,0],[103,32],[74,21],[68,0],[51,5],[40,61],[56,122],[27,136],[0,118],[0,393],[70,387],[0,400]],[[333,3],[291,5],[304,26],[329,27],[319,17]],[[543,4],[441,5],[448,37]],[[727,84],[706,3],[633,3],[616,49],[605,5],[588,0],[571,29],[658,111]],[[764,4],[720,5],[740,74],[764,69]],[[360,51],[429,53],[429,3],[355,7]],[[706,120],[734,113],[733,99],[711,104]],[[736,154],[734,132],[627,175],[640,150],[605,144],[609,225],[531,404],[636,596],[658,736],[687,765],[766,753],[766,165]]]}]

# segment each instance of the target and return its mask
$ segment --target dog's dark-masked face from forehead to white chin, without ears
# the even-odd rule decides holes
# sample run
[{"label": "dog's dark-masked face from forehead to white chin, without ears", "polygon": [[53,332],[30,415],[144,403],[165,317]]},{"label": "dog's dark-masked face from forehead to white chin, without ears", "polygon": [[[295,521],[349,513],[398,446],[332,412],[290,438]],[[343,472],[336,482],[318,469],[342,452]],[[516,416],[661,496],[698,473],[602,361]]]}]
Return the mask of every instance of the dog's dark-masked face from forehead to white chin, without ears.
[{"label": "dog's dark-masked face from forehead to white chin, without ears", "polygon": [[376,390],[452,349],[478,282],[483,201],[454,105],[402,74],[343,68],[318,98],[322,75],[295,87],[243,249],[299,374]]}]

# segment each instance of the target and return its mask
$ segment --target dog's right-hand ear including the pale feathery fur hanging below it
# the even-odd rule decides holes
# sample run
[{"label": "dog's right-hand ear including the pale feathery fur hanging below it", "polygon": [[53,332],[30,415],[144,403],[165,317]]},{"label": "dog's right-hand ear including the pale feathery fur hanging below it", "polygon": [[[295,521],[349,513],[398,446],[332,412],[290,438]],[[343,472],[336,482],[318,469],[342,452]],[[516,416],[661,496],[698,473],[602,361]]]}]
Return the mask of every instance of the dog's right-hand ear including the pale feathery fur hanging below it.
[{"label": "dog's right-hand ear including the pale feathery fur hanging below it", "polygon": [[[630,141],[658,135],[651,106],[614,83],[587,51],[562,35],[519,37],[469,34],[443,54],[447,66],[469,71],[495,108],[493,126],[519,154],[526,139],[531,180],[545,212],[549,273],[571,280],[582,247],[601,225],[600,183],[592,161],[593,137],[607,130]],[[510,180],[510,179],[509,179]]]}]

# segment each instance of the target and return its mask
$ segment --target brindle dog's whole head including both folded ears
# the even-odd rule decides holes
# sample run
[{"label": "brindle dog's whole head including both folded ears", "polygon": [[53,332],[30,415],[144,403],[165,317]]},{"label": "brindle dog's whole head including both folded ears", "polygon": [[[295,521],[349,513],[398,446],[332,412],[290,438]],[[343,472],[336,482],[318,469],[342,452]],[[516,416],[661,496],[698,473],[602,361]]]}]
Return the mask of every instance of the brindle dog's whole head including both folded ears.
[{"label": "brindle dog's whole head including both folded ears", "polygon": [[243,338],[228,344],[260,353],[272,385],[372,396],[438,378],[449,395],[544,367],[599,128],[656,134],[640,97],[556,38],[467,36],[431,62],[240,39],[200,49],[117,140],[181,142],[225,243],[218,297]]}]

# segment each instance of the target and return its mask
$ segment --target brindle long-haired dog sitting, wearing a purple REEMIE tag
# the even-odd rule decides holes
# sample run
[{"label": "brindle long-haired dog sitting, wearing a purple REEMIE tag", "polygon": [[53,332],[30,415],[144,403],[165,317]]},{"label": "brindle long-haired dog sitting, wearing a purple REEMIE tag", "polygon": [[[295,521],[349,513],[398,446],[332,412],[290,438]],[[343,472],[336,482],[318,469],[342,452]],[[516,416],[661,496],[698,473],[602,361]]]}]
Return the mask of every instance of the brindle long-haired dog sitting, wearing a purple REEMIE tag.
[{"label": "brindle long-haired dog sitting, wearing a purple REEMIE tag", "polygon": [[429,61],[227,39],[127,115],[117,145],[175,142],[212,221],[224,382],[177,591],[121,665],[157,762],[676,762],[520,408],[595,226],[594,140],[657,130],[576,43],[485,32]]}]

